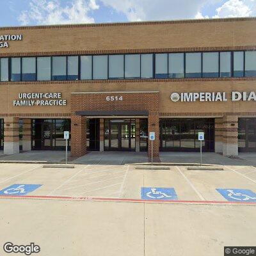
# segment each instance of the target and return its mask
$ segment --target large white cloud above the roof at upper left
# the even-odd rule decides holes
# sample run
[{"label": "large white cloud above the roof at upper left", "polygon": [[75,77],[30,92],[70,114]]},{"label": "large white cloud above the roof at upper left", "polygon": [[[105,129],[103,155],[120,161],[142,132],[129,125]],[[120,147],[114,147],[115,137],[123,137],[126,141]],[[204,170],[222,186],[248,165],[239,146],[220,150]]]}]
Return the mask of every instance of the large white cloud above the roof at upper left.
[{"label": "large white cloud above the roof at upper left", "polygon": [[22,12],[18,20],[28,24],[76,24],[95,22],[90,12],[99,6],[95,0],[72,0],[61,5],[60,0],[30,0],[29,10]]}]

